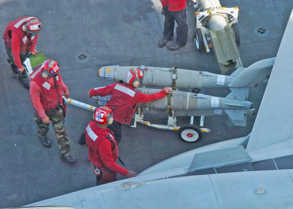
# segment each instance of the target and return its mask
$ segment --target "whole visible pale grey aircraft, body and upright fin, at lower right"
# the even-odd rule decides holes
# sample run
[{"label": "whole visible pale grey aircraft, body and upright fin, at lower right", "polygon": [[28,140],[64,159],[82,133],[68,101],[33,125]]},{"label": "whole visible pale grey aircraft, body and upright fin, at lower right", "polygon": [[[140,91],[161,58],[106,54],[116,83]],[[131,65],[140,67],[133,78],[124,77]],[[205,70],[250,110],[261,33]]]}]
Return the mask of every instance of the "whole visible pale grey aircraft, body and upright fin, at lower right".
[{"label": "whole visible pale grey aircraft, body and upright fin, at lower right", "polygon": [[293,208],[293,12],[251,134],[190,150],[137,177],[26,206]]}]

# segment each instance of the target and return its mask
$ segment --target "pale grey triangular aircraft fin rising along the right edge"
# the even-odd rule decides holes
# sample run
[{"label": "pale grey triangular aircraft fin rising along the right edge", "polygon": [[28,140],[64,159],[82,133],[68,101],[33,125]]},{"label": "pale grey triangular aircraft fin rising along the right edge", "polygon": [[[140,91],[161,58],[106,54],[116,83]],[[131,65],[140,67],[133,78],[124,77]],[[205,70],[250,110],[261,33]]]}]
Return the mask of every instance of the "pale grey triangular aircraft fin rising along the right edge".
[{"label": "pale grey triangular aircraft fin rising along the right edge", "polygon": [[247,152],[293,138],[293,12],[255,119]]}]

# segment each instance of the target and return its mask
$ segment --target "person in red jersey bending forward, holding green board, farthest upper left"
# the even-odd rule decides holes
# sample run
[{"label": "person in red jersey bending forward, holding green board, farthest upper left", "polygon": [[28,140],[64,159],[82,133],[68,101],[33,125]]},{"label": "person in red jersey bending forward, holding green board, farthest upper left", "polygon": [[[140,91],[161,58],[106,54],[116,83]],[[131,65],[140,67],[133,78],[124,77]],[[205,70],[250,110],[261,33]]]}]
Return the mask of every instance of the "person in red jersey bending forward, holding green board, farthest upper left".
[{"label": "person in red jersey bending forward, holding green board, farthest upper left", "polygon": [[14,73],[18,73],[19,80],[25,88],[30,88],[27,74],[22,66],[23,61],[33,54],[37,56],[38,51],[35,45],[38,42],[38,33],[41,31],[41,23],[35,17],[23,17],[6,26],[3,34],[5,49],[8,54],[7,61],[11,64],[11,69]]}]

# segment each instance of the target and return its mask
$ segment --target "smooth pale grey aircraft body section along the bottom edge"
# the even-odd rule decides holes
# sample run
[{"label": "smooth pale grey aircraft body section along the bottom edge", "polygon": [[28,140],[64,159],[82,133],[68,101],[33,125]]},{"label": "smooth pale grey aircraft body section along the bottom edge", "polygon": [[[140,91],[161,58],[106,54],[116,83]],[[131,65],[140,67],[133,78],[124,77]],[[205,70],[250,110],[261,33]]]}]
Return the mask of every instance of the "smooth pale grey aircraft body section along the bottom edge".
[{"label": "smooth pale grey aircraft body section along the bottom edge", "polygon": [[141,182],[134,177],[26,206],[92,208],[292,208],[293,170],[186,176]]}]

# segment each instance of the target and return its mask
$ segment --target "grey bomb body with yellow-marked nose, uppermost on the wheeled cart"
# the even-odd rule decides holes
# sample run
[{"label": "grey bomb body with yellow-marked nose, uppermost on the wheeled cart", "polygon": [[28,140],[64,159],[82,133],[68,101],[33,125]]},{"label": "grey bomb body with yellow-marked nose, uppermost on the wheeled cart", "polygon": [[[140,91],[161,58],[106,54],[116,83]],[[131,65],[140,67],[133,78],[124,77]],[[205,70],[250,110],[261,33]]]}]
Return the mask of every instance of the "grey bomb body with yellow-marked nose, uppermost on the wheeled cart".
[{"label": "grey bomb body with yellow-marked nose, uppermost on the wheeled cart", "polygon": [[154,87],[171,87],[174,79],[177,88],[219,88],[228,87],[235,79],[234,76],[185,69],[176,69],[174,74],[173,68],[145,66],[105,66],[100,68],[97,74],[98,77],[104,78],[105,80],[125,82],[125,75],[131,68],[140,68],[143,70],[143,85]]}]

